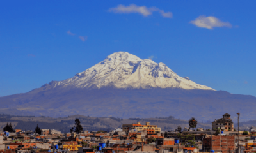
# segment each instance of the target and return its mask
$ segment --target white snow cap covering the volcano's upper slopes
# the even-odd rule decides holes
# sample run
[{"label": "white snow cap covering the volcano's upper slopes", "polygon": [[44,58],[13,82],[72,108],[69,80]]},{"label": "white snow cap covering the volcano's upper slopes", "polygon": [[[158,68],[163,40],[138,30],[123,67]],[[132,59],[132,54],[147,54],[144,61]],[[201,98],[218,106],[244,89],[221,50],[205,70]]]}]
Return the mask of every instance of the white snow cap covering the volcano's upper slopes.
[{"label": "white snow cap covering the volcano's upper slopes", "polygon": [[99,62],[92,68],[74,77],[60,82],[51,82],[53,87],[67,86],[77,88],[106,87],[116,88],[180,88],[214,90],[205,85],[196,84],[188,77],[179,77],[165,64],[140,59],[128,52],[116,52]]}]

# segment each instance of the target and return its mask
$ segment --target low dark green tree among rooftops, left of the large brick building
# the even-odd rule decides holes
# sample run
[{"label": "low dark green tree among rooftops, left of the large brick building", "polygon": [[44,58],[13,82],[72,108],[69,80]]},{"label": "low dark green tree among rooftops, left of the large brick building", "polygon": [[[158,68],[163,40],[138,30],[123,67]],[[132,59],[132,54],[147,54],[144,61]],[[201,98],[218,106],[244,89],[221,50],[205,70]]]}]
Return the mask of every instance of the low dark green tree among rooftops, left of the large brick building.
[{"label": "low dark green tree among rooftops, left of the large brick building", "polygon": [[179,138],[181,145],[185,147],[195,146],[195,135],[189,133],[178,133],[177,138]]}]

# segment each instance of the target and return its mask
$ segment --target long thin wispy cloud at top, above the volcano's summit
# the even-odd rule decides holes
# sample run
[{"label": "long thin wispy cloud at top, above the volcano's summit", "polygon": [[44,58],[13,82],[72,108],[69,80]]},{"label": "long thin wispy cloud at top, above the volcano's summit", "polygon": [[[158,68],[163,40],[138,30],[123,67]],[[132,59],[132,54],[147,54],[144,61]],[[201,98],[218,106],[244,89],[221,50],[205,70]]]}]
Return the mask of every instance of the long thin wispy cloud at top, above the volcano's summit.
[{"label": "long thin wispy cloud at top, above the volcano's summit", "polygon": [[156,8],[156,7],[147,8],[146,6],[137,6],[136,4],[130,4],[129,6],[124,6],[120,4],[115,8],[109,8],[108,11],[113,13],[125,13],[125,14],[139,13],[144,17],[147,17],[148,15],[152,15],[154,11],[157,11],[158,13],[160,13],[162,17],[166,17],[166,18],[173,17],[172,12],[170,11],[165,12],[164,10],[160,10],[159,8]]}]

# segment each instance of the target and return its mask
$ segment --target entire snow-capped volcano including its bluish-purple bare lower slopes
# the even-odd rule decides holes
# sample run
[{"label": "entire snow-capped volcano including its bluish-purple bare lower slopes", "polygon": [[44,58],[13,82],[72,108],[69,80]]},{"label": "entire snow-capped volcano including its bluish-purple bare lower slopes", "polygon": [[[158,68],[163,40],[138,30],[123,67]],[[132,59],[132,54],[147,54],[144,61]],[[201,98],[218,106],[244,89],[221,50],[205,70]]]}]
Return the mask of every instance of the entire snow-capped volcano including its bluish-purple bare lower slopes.
[{"label": "entire snow-capped volcano including its bluish-purple bare lower slopes", "polygon": [[[188,77],[179,77],[163,63],[116,52],[67,80],[52,81],[24,94],[0,97],[0,105],[0,112],[19,115],[124,118],[175,115],[180,119],[193,116],[213,120],[229,110],[230,114],[245,114],[244,120],[253,120],[256,98],[215,91]],[[209,116],[209,112],[214,115]]]}]

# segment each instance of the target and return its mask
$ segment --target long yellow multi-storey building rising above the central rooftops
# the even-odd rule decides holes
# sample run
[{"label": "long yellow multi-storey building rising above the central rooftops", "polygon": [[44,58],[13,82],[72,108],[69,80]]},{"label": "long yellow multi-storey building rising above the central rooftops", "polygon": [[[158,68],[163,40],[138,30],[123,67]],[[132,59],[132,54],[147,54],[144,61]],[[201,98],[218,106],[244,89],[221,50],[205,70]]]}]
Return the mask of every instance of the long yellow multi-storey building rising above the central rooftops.
[{"label": "long yellow multi-storey building rising above the central rooftops", "polygon": [[131,129],[138,129],[138,131],[147,130],[148,134],[161,132],[161,128],[154,125],[150,125],[149,122],[146,122],[146,125],[141,125],[140,122],[137,122],[137,124],[123,124],[122,129],[124,132],[129,132],[129,130]]}]

